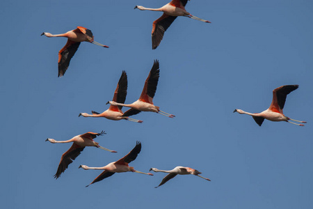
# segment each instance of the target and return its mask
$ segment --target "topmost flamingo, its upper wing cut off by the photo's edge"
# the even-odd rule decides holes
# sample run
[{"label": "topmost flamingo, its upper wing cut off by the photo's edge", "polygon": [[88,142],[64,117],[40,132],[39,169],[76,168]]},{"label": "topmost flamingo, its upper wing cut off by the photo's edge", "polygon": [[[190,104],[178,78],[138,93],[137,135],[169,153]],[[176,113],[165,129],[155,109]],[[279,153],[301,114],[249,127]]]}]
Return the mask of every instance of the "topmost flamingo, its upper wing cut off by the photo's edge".
[{"label": "topmost flamingo, its upper wing cut off by the photo's edge", "polygon": [[207,20],[200,19],[188,13],[185,10],[186,3],[189,0],[172,0],[170,3],[162,6],[161,8],[145,8],[143,6],[135,6],[135,9],[139,10],[152,10],[163,12],[163,15],[155,20],[152,24],[152,49],[157,49],[161,40],[163,39],[164,32],[168,29],[170,24],[174,22],[177,16],[189,17],[194,20],[200,20],[202,22],[208,22]]}]

